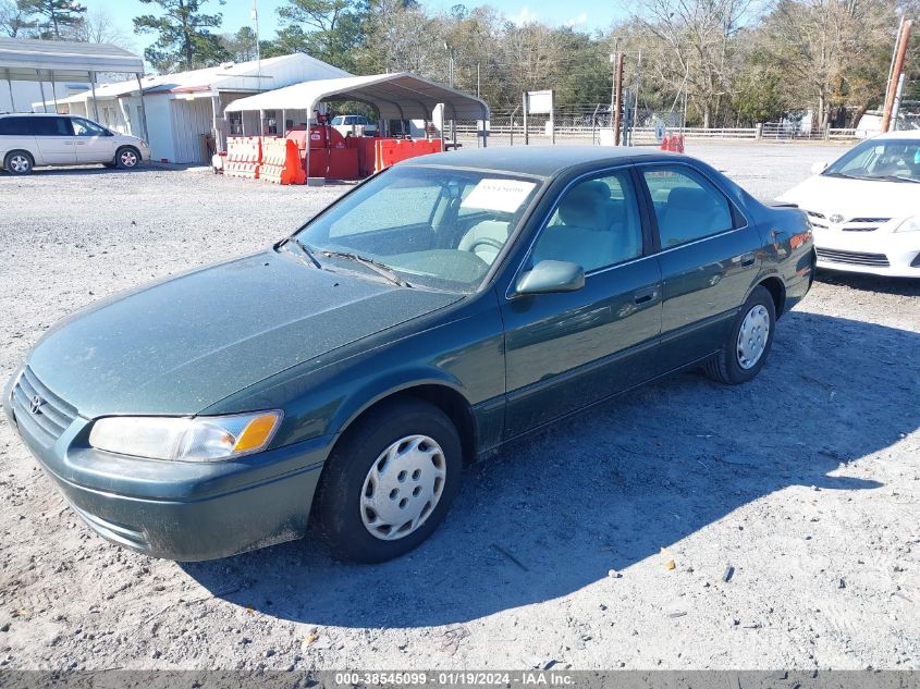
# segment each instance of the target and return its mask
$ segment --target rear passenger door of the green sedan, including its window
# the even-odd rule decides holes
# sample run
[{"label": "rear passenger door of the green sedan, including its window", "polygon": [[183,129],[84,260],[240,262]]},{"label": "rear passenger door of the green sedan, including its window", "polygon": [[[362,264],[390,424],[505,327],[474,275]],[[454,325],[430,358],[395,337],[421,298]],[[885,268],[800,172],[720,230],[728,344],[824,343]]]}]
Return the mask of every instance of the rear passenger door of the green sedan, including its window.
[{"label": "rear passenger door of the green sedan, including its window", "polygon": [[660,246],[660,372],[721,348],[760,269],[761,238],[739,209],[687,163],[639,168]]}]

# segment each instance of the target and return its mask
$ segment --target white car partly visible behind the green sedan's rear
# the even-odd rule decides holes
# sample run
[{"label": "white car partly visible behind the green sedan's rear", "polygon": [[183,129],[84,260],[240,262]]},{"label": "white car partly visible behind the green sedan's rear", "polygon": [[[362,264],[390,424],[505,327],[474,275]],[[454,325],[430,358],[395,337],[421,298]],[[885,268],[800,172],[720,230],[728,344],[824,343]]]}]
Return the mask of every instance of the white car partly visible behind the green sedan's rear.
[{"label": "white car partly visible behind the green sedan's rear", "polygon": [[866,139],[777,198],[808,213],[818,267],[920,278],[920,131]]}]

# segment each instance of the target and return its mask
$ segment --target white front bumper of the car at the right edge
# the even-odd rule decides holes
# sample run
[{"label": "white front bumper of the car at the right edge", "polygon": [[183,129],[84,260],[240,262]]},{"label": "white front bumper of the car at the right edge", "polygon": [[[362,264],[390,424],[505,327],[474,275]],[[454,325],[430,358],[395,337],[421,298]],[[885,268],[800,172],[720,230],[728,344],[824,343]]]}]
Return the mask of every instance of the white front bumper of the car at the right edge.
[{"label": "white front bumper of the car at the right edge", "polygon": [[846,232],[814,227],[818,267],[920,278],[920,232]]}]

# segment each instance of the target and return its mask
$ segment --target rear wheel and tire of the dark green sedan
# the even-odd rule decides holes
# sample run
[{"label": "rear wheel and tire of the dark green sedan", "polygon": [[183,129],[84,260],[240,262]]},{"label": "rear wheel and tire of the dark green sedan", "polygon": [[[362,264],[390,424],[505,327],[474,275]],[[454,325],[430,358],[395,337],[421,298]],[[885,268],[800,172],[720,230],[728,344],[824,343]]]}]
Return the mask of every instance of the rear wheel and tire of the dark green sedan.
[{"label": "rear wheel and tire of the dark green sedan", "polygon": [[738,311],[725,346],[706,362],[707,374],[726,385],[753,379],[766,361],[775,332],[773,296],[759,285]]}]

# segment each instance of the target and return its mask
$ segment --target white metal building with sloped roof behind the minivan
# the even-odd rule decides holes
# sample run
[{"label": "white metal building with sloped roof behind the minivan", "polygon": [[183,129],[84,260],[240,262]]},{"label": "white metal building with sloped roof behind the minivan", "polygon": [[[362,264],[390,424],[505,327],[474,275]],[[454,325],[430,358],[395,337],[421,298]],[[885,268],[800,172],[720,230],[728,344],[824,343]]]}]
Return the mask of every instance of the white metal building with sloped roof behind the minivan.
[{"label": "white metal building with sloped roof behind the minivan", "polygon": [[[208,140],[223,148],[228,134],[256,135],[260,113],[229,113],[237,98],[315,79],[349,76],[347,72],[304,53],[217,67],[145,76],[144,108],[136,79],[103,84],[58,100],[60,112],[98,120],[111,130],[146,138],[154,160],[201,163],[210,160]],[[49,103],[50,104],[50,103]],[[42,104],[34,103],[40,111]],[[146,110],[146,123],[144,115]],[[275,113],[262,113],[269,133],[280,133]],[[295,122],[294,124],[299,124]]]}]

